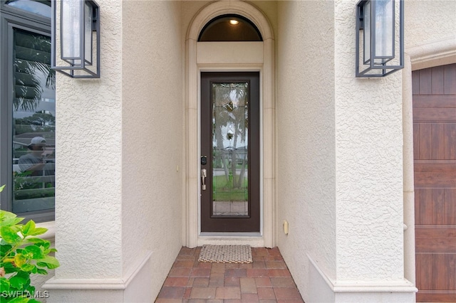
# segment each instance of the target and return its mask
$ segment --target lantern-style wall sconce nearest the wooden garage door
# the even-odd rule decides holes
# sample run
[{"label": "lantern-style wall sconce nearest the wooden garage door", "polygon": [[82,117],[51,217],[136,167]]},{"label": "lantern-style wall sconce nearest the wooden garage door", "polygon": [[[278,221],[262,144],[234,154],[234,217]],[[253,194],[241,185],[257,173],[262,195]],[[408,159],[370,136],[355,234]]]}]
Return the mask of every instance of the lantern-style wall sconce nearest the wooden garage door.
[{"label": "lantern-style wall sconce nearest the wooden garage door", "polygon": [[403,67],[404,1],[359,1],[356,4],[356,77],[384,77]]}]

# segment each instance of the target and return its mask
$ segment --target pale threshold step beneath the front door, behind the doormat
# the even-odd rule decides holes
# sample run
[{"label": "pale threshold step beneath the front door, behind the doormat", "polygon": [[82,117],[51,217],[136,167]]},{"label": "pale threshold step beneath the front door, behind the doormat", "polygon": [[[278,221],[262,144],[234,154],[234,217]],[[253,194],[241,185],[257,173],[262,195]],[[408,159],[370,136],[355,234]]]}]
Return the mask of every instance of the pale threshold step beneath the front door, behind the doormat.
[{"label": "pale threshold step beneath the front door, behind the doormat", "polygon": [[264,247],[261,233],[200,233],[197,245],[250,245],[254,248]]}]

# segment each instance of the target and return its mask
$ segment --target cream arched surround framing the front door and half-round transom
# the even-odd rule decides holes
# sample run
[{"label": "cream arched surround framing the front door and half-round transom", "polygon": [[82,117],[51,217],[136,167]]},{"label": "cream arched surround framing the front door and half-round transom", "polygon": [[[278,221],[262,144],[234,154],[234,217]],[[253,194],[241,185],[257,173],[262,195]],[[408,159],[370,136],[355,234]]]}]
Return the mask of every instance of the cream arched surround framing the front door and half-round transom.
[{"label": "cream arched surround framing the front door and half-round transom", "polygon": [[[249,18],[261,32],[262,42],[198,43],[199,31],[212,18],[239,14]],[[274,38],[261,12],[244,1],[212,2],[199,11],[187,33],[187,94],[185,96],[185,191],[183,244],[195,246],[249,244],[274,247],[275,240],[275,146],[274,146]],[[223,46],[223,47],[221,47]],[[239,53],[239,55],[233,55]],[[242,54],[242,55],[241,55]],[[257,71],[260,73],[260,233],[201,233],[199,228],[199,98],[200,75],[205,71]]]}]

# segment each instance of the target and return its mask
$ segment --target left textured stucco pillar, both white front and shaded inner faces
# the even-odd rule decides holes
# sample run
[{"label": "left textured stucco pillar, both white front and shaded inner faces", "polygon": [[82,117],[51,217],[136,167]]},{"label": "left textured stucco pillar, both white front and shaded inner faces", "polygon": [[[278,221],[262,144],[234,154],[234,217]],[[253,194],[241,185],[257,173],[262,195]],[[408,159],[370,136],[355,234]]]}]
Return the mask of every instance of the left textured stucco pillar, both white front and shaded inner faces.
[{"label": "left textured stucco pillar, both white front and shaded inner faces", "polygon": [[138,285],[129,275],[144,264],[147,301],[182,245],[182,3],[98,4],[101,78],[57,79],[61,267],[50,286]]}]

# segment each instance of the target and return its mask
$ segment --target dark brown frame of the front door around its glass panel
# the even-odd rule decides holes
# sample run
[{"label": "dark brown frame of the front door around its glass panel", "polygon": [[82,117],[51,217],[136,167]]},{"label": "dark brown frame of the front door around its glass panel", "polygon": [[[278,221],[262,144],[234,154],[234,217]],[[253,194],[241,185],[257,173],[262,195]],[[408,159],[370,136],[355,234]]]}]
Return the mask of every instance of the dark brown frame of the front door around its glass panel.
[{"label": "dark brown frame of the front door around its glass panel", "polygon": [[[259,110],[259,72],[234,72],[234,73],[201,73],[202,87],[201,87],[201,154],[207,157],[207,163],[201,164],[200,169],[207,170],[206,186],[207,188],[202,191],[200,189],[200,227],[201,230],[219,230],[226,232],[227,229],[233,232],[237,230],[239,233],[246,232],[259,232],[260,223],[260,110]],[[213,132],[212,132],[212,102],[214,102],[214,95],[212,95],[212,83],[249,83],[247,87],[247,97],[245,100],[248,107],[248,135],[247,135],[247,179],[249,188],[248,198],[248,216],[213,216],[212,207],[213,201]],[[244,112],[243,112],[244,114]],[[239,114],[240,115],[240,114]],[[235,172],[234,172],[235,174]],[[244,203],[244,202],[243,202]]]}]

